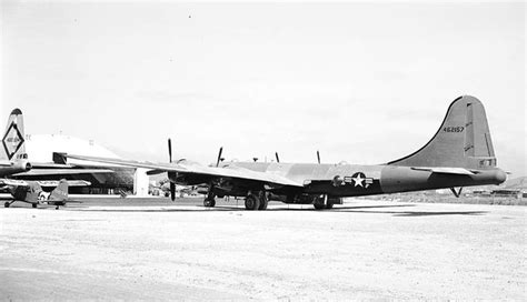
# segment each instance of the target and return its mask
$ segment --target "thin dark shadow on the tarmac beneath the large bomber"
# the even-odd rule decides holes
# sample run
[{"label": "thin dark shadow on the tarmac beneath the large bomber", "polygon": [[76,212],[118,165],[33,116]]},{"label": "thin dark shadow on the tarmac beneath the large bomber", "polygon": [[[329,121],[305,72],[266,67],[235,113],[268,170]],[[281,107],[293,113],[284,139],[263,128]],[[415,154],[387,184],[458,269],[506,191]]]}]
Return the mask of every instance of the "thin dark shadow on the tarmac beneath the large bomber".
[{"label": "thin dark shadow on the tarmac beneath the large bomber", "polygon": [[[217,205],[215,208],[205,208],[197,205],[200,209],[173,209],[173,208],[157,208],[157,209],[93,209],[86,210],[89,212],[145,212],[145,213],[165,213],[165,212],[201,212],[201,213],[213,213],[219,211],[246,211],[243,207],[229,207],[229,205]],[[359,207],[338,207],[332,210],[316,210],[316,209],[291,209],[291,208],[271,208],[267,209],[266,212],[276,211],[300,211],[300,212],[318,212],[318,213],[369,213],[369,214],[392,214],[394,217],[429,217],[429,215],[483,215],[486,211],[390,211],[390,210],[375,210],[385,208],[412,208],[416,204],[397,204],[397,205],[359,205]],[[70,208],[71,209],[71,208]],[[368,210],[371,209],[371,210]],[[71,210],[81,210],[73,208]],[[251,211],[252,212],[252,211]]]}]

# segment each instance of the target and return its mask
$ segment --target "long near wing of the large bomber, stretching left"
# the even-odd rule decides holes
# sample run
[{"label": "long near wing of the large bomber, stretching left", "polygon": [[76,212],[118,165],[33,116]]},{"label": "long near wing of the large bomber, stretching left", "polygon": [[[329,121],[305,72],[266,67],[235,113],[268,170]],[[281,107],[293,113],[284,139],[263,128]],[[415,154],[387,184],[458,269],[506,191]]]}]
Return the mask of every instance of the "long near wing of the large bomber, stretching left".
[{"label": "long near wing of the large bomber, stretching left", "polygon": [[302,187],[301,183],[292,181],[288,178],[276,175],[271,173],[251,171],[243,168],[217,168],[206,167],[200,164],[185,164],[185,163],[152,163],[152,162],[140,162],[120,159],[108,159],[108,158],[96,158],[84,155],[64,154],[64,157],[76,160],[95,161],[103,163],[120,164],[135,168],[145,168],[156,170],[156,172],[177,172],[180,174],[198,174],[218,178],[232,178],[249,181],[260,181],[265,183],[279,184],[279,185],[291,185]]}]

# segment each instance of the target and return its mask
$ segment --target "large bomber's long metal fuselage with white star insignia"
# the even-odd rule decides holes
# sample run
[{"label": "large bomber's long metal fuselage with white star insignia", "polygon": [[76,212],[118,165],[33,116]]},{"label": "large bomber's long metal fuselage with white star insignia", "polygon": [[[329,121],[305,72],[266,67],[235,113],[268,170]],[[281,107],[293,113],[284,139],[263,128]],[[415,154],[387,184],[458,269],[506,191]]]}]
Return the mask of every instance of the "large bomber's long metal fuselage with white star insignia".
[{"label": "large bomber's long metal fuselage with white star insignia", "polygon": [[[499,184],[506,174],[497,168],[475,174],[441,174],[397,165],[230,162],[222,167],[276,173],[304,183],[300,193],[359,197],[454,187]],[[328,181],[330,180],[330,181]],[[279,189],[277,191],[280,191]]]}]

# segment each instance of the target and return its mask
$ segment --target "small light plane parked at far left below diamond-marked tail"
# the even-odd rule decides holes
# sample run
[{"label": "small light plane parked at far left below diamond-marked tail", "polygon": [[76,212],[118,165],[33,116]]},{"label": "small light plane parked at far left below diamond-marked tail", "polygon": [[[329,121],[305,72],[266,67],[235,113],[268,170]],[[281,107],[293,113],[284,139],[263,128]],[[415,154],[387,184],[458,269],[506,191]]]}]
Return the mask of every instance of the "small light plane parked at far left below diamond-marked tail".
[{"label": "small light plane parked at far left below diamond-marked tail", "polygon": [[[20,180],[0,180],[0,187],[8,189],[13,197],[12,201],[6,201],[3,207],[9,208],[13,202],[21,201],[31,203],[33,208],[38,204],[56,205],[57,210],[59,205],[66,205],[68,202],[68,188],[70,185],[86,187],[90,185],[87,181],[67,181],[64,179],[57,181],[20,181]],[[57,187],[51,192],[47,192],[42,187]]]}]

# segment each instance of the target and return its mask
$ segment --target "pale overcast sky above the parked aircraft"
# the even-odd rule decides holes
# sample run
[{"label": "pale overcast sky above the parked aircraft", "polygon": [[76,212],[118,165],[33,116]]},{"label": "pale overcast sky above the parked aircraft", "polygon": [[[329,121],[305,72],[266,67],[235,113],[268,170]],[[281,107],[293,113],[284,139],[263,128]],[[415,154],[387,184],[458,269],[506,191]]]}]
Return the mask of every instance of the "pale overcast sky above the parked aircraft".
[{"label": "pale overcast sky above the parked aircraft", "polygon": [[[381,163],[486,105],[526,175],[525,4],[2,2],[1,121],[126,158]],[[2,122],[2,123],[3,123]]]}]

